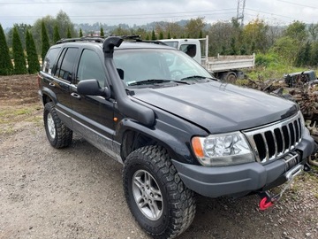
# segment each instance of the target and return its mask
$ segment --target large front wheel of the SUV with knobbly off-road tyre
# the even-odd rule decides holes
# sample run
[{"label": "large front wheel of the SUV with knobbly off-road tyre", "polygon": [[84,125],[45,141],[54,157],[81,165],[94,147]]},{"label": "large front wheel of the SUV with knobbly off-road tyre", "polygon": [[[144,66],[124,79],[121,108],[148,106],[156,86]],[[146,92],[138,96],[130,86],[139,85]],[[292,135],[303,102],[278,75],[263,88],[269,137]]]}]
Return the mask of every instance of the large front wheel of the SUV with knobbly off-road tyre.
[{"label": "large front wheel of the SUV with knobbly off-road tyre", "polygon": [[180,180],[162,147],[146,146],[129,154],[123,184],[134,219],[154,238],[174,238],[192,223],[193,191]]}]

